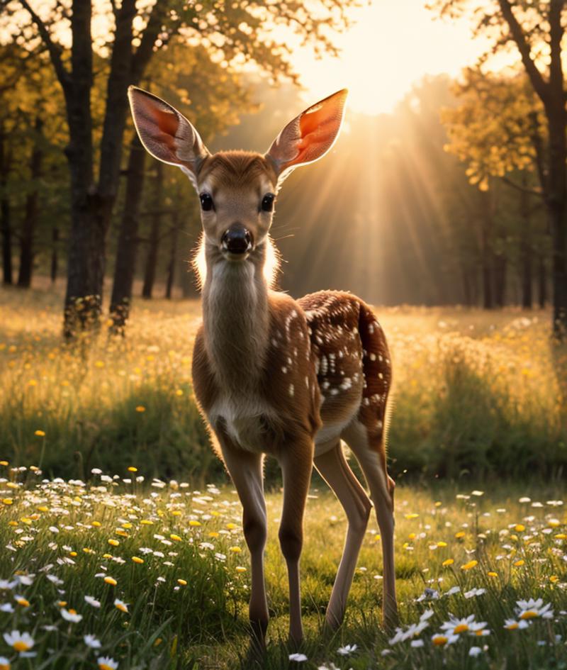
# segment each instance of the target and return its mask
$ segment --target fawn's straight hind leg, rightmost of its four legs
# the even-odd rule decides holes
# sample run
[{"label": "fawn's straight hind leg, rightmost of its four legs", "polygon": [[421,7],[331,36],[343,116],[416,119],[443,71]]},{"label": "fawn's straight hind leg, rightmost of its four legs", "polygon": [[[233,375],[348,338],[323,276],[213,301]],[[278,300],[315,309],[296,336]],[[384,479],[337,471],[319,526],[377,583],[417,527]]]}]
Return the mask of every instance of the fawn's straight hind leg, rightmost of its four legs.
[{"label": "fawn's straight hind leg, rightmost of its four legs", "polygon": [[383,621],[384,625],[392,627],[398,621],[394,568],[394,482],[386,471],[383,436],[379,440],[370,440],[366,427],[359,421],[353,421],[344,430],[343,437],[360,463],[376,509],[382,539]]}]

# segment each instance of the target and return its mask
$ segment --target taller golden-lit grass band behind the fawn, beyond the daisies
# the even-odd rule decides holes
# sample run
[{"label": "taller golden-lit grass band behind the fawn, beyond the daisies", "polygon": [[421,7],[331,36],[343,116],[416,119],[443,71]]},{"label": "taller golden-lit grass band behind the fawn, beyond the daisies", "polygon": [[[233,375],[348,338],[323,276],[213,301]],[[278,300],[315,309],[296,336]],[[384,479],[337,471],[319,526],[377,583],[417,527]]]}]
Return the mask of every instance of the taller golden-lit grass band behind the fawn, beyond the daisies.
[{"label": "taller golden-lit grass band behind the fawn, beyond the daisies", "polygon": [[[50,476],[131,462],[146,476],[218,481],[191,391],[198,301],[135,302],[125,340],[66,347],[62,296],[0,289],[0,457]],[[391,471],[561,479],[567,348],[547,312],[377,308],[392,350]],[[35,435],[37,430],[45,436]],[[277,469],[266,469],[277,484]]]}]

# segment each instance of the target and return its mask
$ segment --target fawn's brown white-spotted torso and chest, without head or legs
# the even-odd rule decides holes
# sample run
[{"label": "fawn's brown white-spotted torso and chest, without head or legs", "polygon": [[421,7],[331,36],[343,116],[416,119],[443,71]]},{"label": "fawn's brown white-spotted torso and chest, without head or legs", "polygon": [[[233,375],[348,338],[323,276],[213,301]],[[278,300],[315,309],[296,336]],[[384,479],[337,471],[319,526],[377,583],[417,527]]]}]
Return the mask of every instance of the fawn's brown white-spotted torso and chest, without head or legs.
[{"label": "fawn's brown white-spotted torso and chest, without head or legs", "polygon": [[[224,430],[242,450],[274,456],[301,430],[320,456],[348,425],[364,424],[371,445],[381,440],[391,364],[386,338],[370,308],[356,296],[320,291],[293,300],[264,287],[254,311],[240,309],[246,277],[232,277],[215,303],[230,322],[215,320],[203,292],[203,325],[193,350],[195,393],[215,431]],[[240,283],[242,282],[242,284]],[[219,300],[218,296],[215,296]],[[210,337],[216,331],[218,337]],[[262,335],[259,335],[261,333]],[[257,363],[234,365],[252,347]],[[378,450],[378,449],[376,449]]]}]

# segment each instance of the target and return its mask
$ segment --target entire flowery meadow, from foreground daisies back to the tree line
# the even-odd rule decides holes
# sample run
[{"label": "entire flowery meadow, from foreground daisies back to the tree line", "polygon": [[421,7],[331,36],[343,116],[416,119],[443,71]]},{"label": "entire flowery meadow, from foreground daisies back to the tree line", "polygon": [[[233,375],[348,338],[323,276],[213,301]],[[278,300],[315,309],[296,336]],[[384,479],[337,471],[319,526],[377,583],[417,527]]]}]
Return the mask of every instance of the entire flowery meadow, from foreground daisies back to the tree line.
[{"label": "entire flowery meadow, from foreground daisies back to the tree line", "polygon": [[346,520],[315,475],[305,642],[288,647],[269,462],[257,662],[240,503],[191,393],[198,303],[136,303],[124,340],[102,330],[72,347],[60,306],[0,293],[1,670],[567,668],[567,359],[549,313],[378,310],[395,371],[400,629],[381,626],[372,517],[347,618],[325,631]]}]

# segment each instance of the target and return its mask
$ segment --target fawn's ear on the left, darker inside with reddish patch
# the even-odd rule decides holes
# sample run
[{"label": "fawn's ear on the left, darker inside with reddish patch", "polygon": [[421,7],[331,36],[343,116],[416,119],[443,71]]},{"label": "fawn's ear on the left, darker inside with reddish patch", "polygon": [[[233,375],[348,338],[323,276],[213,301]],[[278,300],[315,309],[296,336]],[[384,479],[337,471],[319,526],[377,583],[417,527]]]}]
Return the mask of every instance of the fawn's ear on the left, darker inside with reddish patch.
[{"label": "fawn's ear on the left, darker inside with reddish patch", "polygon": [[158,160],[180,167],[196,187],[209,151],[193,125],[176,108],[135,86],[128,89],[128,99],[142,145]]}]

